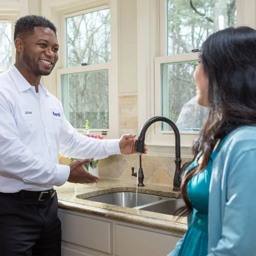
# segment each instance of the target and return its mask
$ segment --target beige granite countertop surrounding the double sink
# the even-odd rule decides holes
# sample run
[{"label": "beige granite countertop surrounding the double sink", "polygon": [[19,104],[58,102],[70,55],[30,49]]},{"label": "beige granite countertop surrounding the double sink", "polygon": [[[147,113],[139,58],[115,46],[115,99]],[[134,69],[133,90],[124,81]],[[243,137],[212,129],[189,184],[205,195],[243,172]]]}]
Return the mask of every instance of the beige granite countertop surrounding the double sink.
[{"label": "beige granite countertop surrounding the double sink", "polygon": [[[186,218],[180,218],[177,221],[177,217],[172,215],[119,207],[83,199],[111,192],[136,192],[136,183],[131,181],[101,178],[99,183],[96,184],[85,185],[67,182],[63,186],[55,187],[55,189],[58,194],[60,209],[97,215],[116,221],[125,221],[130,224],[175,233],[185,233],[187,230]],[[145,183],[145,187],[139,187],[138,192],[180,198],[180,193],[173,192],[171,186],[165,185]]]}]

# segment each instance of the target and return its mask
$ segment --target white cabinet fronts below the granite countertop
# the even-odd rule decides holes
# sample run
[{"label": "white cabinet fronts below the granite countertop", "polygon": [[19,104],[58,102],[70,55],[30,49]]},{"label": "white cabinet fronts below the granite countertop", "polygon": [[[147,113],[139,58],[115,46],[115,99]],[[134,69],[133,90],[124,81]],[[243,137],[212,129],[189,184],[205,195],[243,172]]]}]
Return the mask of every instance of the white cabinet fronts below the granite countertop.
[{"label": "white cabinet fronts below the granite countertop", "polygon": [[166,256],[180,234],[59,209],[61,256]]}]

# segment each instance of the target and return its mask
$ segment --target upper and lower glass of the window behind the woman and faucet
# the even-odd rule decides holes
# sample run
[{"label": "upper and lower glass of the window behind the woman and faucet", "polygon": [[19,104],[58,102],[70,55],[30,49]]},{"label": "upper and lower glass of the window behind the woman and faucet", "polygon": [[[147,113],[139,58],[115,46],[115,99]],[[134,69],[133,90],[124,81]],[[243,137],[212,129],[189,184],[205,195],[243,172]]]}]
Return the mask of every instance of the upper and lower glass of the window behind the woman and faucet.
[{"label": "upper and lower glass of the window behind the woman and faucet", "polygon": [[[198,54],[190,53],[199,49],[213,32],[236,26],[236,0],[167,0],[166,20],[166,55],[169,58],[166,59],[168,63],[160,61],[158,66],[161,70],[161,115],[172,119],[180,131],[199,131],[208,111],[195,102],[193,73],[198,65]],[[181,54],[182,62],[179,61]],[[195,60],[189,61],[190,56]],[[172,128],[162,124],[161,130]]]}]

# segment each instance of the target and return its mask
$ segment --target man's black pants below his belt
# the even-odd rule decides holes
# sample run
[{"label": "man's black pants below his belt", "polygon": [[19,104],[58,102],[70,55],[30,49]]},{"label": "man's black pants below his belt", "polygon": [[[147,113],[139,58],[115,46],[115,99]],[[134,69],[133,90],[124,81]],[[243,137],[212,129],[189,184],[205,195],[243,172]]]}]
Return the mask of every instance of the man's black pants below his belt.
[{"label": "man's black pants below his belt", "polygon": [[0,193],[0,255],[61,256],[57,213],[57,194],[38,201]]}]

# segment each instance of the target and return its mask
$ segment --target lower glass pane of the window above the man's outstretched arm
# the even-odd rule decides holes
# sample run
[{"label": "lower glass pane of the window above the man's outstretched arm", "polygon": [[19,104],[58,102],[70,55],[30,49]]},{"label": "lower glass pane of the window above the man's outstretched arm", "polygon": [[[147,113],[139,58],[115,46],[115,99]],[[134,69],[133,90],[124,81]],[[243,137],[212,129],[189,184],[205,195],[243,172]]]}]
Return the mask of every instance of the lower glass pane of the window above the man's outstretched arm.
[{"label": "lower glass pane of the window above the man's outstretched arm", "polygon": [[83,128],[90,120],[92,129],[108,129],[108,70],[62,75],[63,105],[71,125]]}]

